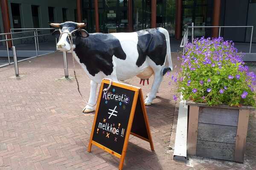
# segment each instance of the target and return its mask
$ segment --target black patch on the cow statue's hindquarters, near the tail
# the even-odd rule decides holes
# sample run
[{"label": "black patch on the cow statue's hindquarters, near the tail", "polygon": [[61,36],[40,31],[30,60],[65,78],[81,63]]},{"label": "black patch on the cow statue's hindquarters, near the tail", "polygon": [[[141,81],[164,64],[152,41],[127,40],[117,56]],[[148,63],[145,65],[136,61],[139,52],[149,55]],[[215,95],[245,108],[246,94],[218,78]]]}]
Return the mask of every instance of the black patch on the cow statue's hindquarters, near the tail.
[{"label": "black patch on the cow statue's hindquarters, near the tail", "polygon": [[166,59],[166,37],[158,28],[137,31],[139,57],[136,65],[140,67],[148,56],[156,65],[163,65]]}]

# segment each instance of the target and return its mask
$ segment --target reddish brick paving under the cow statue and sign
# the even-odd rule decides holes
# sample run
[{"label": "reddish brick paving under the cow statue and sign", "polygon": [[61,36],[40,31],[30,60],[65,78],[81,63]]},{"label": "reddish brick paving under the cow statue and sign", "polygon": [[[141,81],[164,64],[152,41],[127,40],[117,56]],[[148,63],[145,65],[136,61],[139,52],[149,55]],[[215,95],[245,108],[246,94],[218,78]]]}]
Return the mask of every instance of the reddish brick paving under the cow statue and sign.
[{"label": "reddish brick paving under the cow statue and sign", "polygon": [[[173,54],[173,58],[176,58]],[[19,63],[20,79],[13,65],[0,68],[0,170],[117,170],[119,159],[93,146],[87,153],[94,113],[82,114],[84,103],[75,80],[61,81],[61,53]],[[72,74],[71,56],[69,57]],[[177,63],[177,61],[174,61]],[[77,65],[81,92],[89,93],[89,79]],[[175,74],[173,72],[172,74]],[[152,79],[150,79],[152,82]],[[139,86],[137,77],[127,81]],[[155,151],[131,136],[124,170],[256,169],[256,117],[250,116],[245,164],[191,158],[172,159],[177,109],[175,86],[165,77],[154,105],[147,107]],[[149,92],[143,87],[143,94]]]}]

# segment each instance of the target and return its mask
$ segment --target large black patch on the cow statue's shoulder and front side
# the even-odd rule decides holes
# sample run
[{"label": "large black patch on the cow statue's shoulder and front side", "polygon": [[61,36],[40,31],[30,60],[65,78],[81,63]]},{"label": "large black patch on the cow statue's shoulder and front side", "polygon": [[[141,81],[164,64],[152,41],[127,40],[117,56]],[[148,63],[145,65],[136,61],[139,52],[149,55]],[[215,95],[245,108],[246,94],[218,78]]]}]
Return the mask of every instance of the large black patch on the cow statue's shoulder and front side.
[{"label": "large black patch on the cow statue's shoulder and front side", "polygon": [[99,71],[107,76],[111,75],[113,55],[119,59],[126,59],[119,40],[112,34],[94,33],[87,38],[76,37],[74,51],[92,76]]}]

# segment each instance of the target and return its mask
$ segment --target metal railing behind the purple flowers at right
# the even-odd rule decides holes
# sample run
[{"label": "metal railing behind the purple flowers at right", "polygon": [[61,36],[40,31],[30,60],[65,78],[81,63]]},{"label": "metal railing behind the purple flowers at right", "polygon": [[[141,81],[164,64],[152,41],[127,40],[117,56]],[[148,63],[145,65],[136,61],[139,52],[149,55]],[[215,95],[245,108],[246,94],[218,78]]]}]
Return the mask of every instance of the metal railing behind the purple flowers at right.
[{"label": "metal railing behind the purple flowers at right", "polygon": [[194,26],[194,23],[192,23],[192,26],[187,26],[183,35],[183,38],[180,43],[180,47],[183,48],[183,54],[185,52],[186,43],[188,42],[188,32],[189,28],[192,28],[191,32],[191,42],[194,42],[194,28],[219,28],[218,36],[221,36],[221,28],[252,28],[251,31],[251,37],[250,37],[250,49],[249,53],[251,53],[252,48],[252,40],[253,40],[253,26]]}]

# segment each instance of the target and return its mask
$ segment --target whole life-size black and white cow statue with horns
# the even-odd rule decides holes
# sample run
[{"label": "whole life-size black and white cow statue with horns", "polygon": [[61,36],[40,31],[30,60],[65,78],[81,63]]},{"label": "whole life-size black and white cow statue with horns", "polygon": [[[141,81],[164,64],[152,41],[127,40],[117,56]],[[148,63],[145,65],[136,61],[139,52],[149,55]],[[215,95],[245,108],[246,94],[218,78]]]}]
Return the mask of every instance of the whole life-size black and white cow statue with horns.
[{"label": "whole life-size black and white cow statue with horns", "polygon": [[[97,85],[103,78],[123,81],[137,76],[145,81],[154,74],[154,82],[145,105],[151,105],[163,75],[172,71],[169,33],[164,28],[152,28],[129,33],[93,33],[81,29],[84,23],[50,23],[59,28],[52,34],[61,37],[57,50],[70,51],[68,33],[72,31],[75,59],[86,72],[90,81],[89,105],[84,113],[95,111]],[[76,30],[76,31],[75,31]],[[66,34],[65,34],[66,33]]]}]

